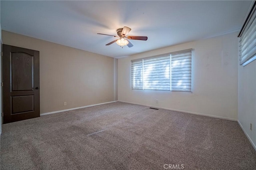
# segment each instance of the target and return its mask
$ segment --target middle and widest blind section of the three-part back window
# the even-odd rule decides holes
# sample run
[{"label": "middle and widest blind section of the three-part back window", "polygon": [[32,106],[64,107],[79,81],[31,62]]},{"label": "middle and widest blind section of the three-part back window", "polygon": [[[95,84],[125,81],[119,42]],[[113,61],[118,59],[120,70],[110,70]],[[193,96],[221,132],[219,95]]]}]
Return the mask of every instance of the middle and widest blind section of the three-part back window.
[{"label": "middle and widest blind section of the three-part back window", "polygon": [[143,89],[170,91],[170,55],[144,59]]}]

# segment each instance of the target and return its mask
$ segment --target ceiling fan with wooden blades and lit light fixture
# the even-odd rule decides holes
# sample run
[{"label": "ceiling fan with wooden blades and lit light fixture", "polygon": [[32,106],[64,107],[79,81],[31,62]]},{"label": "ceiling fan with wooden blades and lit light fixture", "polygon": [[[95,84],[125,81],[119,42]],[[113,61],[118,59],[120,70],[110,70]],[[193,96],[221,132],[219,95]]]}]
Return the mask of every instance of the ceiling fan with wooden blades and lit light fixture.
[{"label": "ceiling fan with wooden blades and lit light fixture", "polygon": [[[129,40],[143,40],[143,41],[148,40],[148,37],[145,37],[145,36],[127,36],[127,34],[131,30],[132,29],[130,29],[129,27],[118,28],[116,30],[116,33],[118,36],[113,36],[113,37],[118,37],[118,39],[116,39],[110,43],[107,43],[106,45],[110,45],[110,44],[116,42],[120,46],[127,45],[128,47],[132,47],[133,45]],[[97,33],[97,34],[100,34],[100,33]],[[112,35],[108,35],[108,34],[100,34],[100,35],[112,36]]]}]

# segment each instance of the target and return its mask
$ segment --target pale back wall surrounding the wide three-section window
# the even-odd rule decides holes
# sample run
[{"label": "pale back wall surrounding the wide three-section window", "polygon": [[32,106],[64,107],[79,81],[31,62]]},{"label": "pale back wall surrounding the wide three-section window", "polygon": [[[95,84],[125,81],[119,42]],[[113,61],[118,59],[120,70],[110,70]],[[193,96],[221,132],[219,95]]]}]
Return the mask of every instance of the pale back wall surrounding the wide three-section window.
[{"label": "pale back wall surrounding the wide three-section window", "polygon": [[[118,59],[118,101],[237,119],[238,38],[226,34]],[[132,90],[131,60],[193,48],[192,93]],[[155,100],[158,100],[158,103]]]}]

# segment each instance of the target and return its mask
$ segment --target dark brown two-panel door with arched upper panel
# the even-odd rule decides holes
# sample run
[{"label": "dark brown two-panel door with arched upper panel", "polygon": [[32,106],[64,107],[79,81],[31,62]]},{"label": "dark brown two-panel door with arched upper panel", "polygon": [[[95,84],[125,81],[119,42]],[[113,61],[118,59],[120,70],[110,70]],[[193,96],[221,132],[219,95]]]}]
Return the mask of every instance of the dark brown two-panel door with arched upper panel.
[{"label": "dark brown two-panel door with arched upper panel", "polygon": [[40,117],[39,51],[3,44],[3,123]]}]

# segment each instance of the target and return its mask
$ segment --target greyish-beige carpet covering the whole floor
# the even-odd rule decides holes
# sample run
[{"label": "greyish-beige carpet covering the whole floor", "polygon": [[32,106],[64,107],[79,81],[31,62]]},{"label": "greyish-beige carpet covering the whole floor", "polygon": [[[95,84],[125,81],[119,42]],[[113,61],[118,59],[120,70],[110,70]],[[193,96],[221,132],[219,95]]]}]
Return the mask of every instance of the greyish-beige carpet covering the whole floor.
[{"label": "greyish-beige carpet covering the whole floor", "polygon": [[2,130],[1,170],[256,169],[256,152],[235,121],[120,102]]}]

